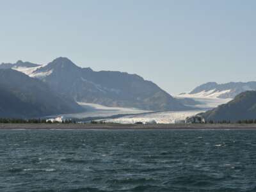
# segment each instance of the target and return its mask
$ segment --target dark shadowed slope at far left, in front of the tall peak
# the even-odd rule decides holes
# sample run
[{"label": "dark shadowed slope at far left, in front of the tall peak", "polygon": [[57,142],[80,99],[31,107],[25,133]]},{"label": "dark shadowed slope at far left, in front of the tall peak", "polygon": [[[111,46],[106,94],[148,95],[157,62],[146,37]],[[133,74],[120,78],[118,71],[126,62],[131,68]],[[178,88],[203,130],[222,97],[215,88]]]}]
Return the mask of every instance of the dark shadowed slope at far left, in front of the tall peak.
[{"label": "dark shadowed slope at far left, in front of the tall peak", "polygon": [[0,117],[31,118],[83,111],[38,79],[12,69],[0,70]]}]

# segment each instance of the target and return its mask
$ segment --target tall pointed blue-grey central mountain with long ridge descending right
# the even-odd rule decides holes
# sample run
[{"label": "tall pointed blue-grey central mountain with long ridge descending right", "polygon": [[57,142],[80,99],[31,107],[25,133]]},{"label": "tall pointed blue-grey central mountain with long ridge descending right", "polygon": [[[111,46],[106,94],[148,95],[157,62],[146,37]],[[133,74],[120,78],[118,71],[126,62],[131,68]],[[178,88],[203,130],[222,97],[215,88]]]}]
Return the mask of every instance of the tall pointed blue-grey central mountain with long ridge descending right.
[{"label": "tall pointed blue-grey central mountain with long ridge descending right", "polygon": [[136,74],[95,72],[91,68],[77,67],[67,58],[57,58],[36,69],[31,77],[42,79],[54,90],[79,102],[154,111],[190,109]]}]

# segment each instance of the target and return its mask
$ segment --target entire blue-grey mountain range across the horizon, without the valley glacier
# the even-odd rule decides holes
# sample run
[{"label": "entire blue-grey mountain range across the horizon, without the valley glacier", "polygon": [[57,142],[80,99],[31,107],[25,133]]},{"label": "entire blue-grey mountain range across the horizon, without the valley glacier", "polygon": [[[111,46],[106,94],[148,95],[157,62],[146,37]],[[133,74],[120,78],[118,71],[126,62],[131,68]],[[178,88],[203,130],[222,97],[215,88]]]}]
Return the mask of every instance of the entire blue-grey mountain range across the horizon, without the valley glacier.
[{"label": "entire blue-grey mountain range across the horizon, without the valley glacier", "polygon": [[148,111],[184,111],[198,98],[231,100],[202,113],[206,120],[256,118],[256,82],[205,83],[174,98],[136,74],[94,71],[68,58],[47,65],[17,61],[0,65],[0,117],[28,118],[84,111],[77,102]]}]

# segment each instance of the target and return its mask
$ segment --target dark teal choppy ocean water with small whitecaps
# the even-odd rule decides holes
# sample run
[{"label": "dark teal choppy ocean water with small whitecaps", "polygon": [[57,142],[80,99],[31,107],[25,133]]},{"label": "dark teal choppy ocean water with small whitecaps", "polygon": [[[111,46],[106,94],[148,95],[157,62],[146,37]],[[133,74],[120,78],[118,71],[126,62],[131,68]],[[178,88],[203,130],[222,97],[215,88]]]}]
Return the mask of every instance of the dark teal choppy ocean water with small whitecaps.
[{"label": "dark teal choppy ocean water with small whitecaps", "polygon": [[256,130],[0,131],[0,191],[256,191]]}]

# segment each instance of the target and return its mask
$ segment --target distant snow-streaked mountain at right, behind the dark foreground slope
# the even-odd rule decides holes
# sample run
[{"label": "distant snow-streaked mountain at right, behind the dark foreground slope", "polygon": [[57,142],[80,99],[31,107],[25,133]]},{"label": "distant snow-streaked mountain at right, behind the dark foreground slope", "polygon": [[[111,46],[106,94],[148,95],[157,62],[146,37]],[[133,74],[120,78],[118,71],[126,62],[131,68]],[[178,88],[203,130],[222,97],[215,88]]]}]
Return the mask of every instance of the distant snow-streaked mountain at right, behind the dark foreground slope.
[{"label": "distant snow-streaked mountain at right, behind the dark foreground slope", "polygon": [[192,92],[188,94],[193,97],[215,97],[221,99],[234,98],[239,93],[243,93],[249,90],[256,90],[256,82],[251,81],[248,83],[231,82],[225,84],[218,84],[215,82],[209,82],[196,87]]}]

